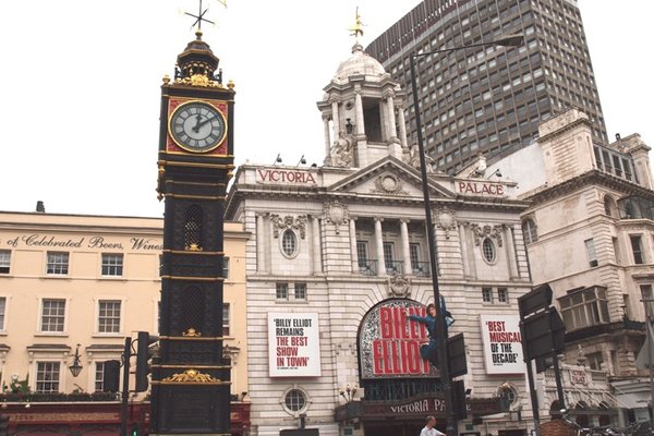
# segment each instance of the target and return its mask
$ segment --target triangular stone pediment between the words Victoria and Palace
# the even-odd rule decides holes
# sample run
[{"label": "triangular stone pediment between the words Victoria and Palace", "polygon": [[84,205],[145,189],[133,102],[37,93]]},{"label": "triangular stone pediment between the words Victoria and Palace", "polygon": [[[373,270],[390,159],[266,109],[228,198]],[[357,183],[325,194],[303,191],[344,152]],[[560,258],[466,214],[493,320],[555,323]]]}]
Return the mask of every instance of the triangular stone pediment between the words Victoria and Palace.
[{"label": "triangular stone pediment between the words Victoria and Palace", "polygon": [[[437,175],[438,177],[438,175]],[[398,197],[422,199],[420,172],[392,157],[382,159],[348,175],[327,189],[370,197]],[[453,198],[456,195],[435,181],[429,181],[429,195],[434,198]]]}]

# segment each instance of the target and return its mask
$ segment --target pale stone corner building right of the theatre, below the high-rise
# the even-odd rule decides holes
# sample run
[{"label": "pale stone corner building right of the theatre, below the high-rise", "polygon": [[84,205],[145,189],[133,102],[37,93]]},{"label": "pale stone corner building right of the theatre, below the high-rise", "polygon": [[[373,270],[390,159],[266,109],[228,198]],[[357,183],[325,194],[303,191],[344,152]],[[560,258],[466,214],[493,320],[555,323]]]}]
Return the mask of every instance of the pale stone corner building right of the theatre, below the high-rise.
[{"label": "pale stone corner building right of the theatre, below the high-rise", "polygon": [[[654,296],[650,147],[638,134],[594,144],[591,130],[583,112],[569,110],[487,173],[500,170],[531,203],[522,216],[531,271],[534,283],[554,290],[567,328],[566,362],[604,371],[613,382],[613,399],[571,389],[567,405],[583,402],[595,423],[607,403],[622,409],[622,422],[647,420],[649,382],[635,360],[645,338],[642,300]],[[555,391],[545,395],[544,412],[555,399]]]}]

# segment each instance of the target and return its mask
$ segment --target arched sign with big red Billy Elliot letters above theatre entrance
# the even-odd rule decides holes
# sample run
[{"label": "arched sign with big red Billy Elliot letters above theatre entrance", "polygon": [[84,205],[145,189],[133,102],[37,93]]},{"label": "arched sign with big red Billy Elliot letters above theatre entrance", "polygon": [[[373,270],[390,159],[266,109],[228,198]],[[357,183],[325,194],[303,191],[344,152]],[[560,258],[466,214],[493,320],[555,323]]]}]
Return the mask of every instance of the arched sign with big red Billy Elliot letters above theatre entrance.
[{"label": "arched sign with big red Billy Elliot letters above theatre entrance", "polygon": [[429,341],[425,326],[407,319],[425,314],[425,306],[412,300],[386,300],[371,308],[359,328],[361,377],[437,376],[420,356],[420,346]]}]

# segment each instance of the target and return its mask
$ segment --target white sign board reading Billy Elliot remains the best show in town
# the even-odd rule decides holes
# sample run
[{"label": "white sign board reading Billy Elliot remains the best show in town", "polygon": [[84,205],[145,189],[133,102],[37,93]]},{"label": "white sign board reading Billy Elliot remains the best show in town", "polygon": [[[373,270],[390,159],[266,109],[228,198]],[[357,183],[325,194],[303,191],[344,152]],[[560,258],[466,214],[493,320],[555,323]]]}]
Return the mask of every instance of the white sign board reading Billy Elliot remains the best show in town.
[{"label": "white sign board reading Billy Elliot remains the best show in town", "polygon": [[268,313],[270,377],[318,377],[320,338],[317,313]]}]

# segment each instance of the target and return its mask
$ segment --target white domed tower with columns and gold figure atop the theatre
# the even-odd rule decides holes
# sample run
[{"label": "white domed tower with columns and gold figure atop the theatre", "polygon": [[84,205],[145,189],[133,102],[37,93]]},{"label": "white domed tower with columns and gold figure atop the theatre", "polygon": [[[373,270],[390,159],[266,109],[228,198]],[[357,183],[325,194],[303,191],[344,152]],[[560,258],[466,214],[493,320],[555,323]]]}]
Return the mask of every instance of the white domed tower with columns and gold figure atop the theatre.
[{"label": "white domed tower with columns and gold figure atop the theatre", "polygon": [[404,94],[359,44],[359,13],[352,31],[352,56],[338,66],[317,104],[325,125],[325,165],[364,168],[388,155],[401,160],[409,154]]}]

